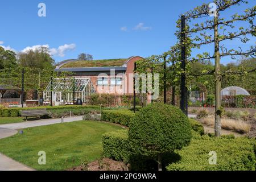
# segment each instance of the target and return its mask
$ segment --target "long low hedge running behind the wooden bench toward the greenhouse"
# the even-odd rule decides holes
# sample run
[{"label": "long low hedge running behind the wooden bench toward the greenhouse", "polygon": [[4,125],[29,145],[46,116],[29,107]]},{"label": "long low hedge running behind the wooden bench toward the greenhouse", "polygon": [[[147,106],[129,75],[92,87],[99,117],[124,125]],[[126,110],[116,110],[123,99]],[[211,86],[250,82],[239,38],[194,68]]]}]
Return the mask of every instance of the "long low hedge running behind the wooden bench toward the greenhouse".
[{"label": "long low hedge running behind the wooden bench toward the greenhouse", "polygon": [[22,110],[32,110],[32,109],[47,109],[49,112],[54,112],[57,110],[79,110],[79,109],[94,109],[99,110],[99,106],[42,106],[42,107],[13,107],[8,109],[0,109],[0,117],[19,117],[20,111]]}]

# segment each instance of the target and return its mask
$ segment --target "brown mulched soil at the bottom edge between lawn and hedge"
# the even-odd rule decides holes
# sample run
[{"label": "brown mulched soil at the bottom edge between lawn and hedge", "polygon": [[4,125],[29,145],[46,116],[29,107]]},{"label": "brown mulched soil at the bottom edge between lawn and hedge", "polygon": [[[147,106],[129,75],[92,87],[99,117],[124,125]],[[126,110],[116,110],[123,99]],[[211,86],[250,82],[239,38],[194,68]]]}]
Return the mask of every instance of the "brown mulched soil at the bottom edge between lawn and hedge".
[{"label": "brown mulched soil at the bottom edge between lawn and hedge", "polygon": [[104,158],[89,163],[87,166],[73,167],[68,171],[127,171],[127,166],[125,163]]}]

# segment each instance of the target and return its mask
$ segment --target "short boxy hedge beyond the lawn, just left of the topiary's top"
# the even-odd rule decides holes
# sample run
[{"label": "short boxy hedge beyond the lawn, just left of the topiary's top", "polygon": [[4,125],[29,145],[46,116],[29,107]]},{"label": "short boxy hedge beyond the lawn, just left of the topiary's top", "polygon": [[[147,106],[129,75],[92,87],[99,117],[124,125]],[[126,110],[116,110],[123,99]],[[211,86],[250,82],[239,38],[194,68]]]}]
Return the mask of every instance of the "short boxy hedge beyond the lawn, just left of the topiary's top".
[{"label": "short boxy hedge beyond the lawn, just left of the topiary's top", "polygon": [[129,126],[134,113],[128,109],[123,110],[103,110],[101,111],[101,121],[118,123],[123,126]]}]

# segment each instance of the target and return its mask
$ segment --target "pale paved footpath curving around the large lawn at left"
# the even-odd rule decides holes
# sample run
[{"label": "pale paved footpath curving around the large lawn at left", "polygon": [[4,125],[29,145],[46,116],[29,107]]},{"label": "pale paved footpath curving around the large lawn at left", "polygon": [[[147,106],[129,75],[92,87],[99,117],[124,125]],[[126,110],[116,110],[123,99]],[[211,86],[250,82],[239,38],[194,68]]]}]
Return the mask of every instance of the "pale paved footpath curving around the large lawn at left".
[{"label": "pale paved footpath curving around the large lawn at left", "polygon": [[[73,121],[81,121],[82,116],[80,117],[71,117],[64,118],[65,122],[73,122]],[[0,125],[0,139],[10,137],[18,133],[19,129],[26,129],[28,127],[36,127],[36,126],[46,126],[53,125],[56,123],[61,123],[61,119],[42,119],[40,121],[28,121],[23,123],[10,123]],[[0,171],[32,171],[34,169],[25,166],[24,164],[20,164],[13,159],[3,155],[0,153]]]}]

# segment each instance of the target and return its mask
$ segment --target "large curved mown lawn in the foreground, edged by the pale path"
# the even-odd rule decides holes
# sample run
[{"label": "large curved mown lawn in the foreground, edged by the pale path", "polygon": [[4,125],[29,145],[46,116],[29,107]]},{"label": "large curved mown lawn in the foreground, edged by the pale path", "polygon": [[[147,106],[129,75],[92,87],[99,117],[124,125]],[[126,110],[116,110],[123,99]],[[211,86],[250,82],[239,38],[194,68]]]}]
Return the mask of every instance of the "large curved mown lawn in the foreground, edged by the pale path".
[{"label": "large curved mown lawn in the foreground, edged by the pale path", "polygon": [[[77,121],[24,129],[0,140],[0,152],[37,170],[64,170],[101,157],[102,134],[119,130],[111,123]],[[38,152],[46,152],[46,165]]]}]

